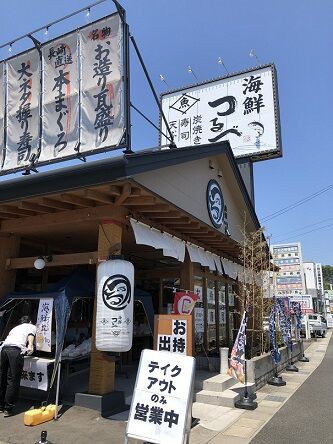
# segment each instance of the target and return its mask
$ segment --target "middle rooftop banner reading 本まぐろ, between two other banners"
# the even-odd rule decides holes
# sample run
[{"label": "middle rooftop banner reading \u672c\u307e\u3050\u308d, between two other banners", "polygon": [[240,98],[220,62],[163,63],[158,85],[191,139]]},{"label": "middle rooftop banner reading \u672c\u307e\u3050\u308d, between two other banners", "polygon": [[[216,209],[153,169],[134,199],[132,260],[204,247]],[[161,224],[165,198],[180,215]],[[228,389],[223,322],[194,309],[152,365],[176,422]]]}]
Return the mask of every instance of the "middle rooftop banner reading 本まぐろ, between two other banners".
[{"label": "middle rooftop banner reading \u672c\u307e\u3050\u308d, between two other banners", "polygon": [[43,143],[41,162],[76,154],[79,142],[78,37],[43,47]]}]

